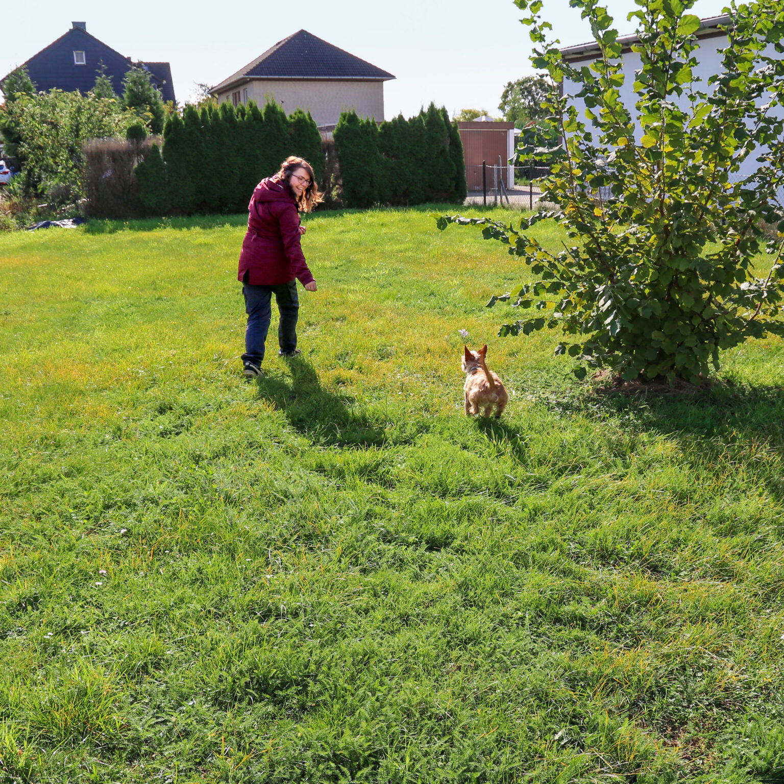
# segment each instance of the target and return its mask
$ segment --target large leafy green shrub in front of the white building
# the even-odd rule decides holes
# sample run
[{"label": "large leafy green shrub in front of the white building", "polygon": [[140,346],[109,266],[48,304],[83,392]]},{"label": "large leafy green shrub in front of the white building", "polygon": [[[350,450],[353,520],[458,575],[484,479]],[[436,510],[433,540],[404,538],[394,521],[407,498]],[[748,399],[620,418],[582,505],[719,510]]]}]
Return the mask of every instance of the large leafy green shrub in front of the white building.
[{"label": "large leafy green shrub in front of the white building", "polygon": [[[513,299],[537,313],[503,325],[501,335],[561,328],[556,351],[582,361],[580,377],[588,365],[627,380],[696,382],[718,368],[720,350],[784,332],[777,318],[784,244],[764,235],[764,223],[784,229],[784,62],[771,51],[784,51],[784,2],[730,9],[722,66],[707,82],[696,75],[700,20],[686,13],[692,3],[636,2],[629,18],[637,23],[632,50],[641,68],[632,107],[621,100],[627,74],[618,31],[597,0],[570,2],[601,52],[590,66],[561,56],[539,16],[541,0],[517,0],[530,12],[532,64],[550,74],[547,122],[564,139],[543,187],[543,201],[560,209],[540,211],[519,229],[459,216],[441,216],[438,226],[482,225],[485,238],[508,244],[540,276]],[[564,79],[579,86],[574,97],[587,122],[572,96],[559,95]],[[561,252],[528,232],[547,218],[572,240]],[[755,277],[753,256],[766,249],[770,271]],[[488,305],[499,299],[511,298]]]}]

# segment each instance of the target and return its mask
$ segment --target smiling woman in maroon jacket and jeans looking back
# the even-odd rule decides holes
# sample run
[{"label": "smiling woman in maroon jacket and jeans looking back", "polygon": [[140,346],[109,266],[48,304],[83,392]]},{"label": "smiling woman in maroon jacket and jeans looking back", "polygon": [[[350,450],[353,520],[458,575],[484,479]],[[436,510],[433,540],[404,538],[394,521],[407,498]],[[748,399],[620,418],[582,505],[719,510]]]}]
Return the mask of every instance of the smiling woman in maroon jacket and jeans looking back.
[{"label": "smiling woman in maroon jacket and jeans looking back", "polygon": [[319,201],[313,168],[293,155],[285,159],[277,174],[262,180],[253,191],[238,273],[248,314],[242,354],[242,372],[247,378],[261,375],[273,294],[280,312],[278,356],[299,354],[296,280],[306,291],[317,290],[299,245],[299,237],[305,233],[305,227],[299,225],[299,212],[310,212]]}]

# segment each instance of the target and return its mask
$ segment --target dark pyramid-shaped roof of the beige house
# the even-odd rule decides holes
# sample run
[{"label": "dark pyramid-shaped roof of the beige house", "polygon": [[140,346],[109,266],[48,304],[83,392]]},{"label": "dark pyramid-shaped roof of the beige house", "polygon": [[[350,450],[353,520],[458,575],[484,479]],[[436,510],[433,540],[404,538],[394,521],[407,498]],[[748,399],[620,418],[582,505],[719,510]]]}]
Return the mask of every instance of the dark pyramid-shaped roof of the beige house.
[{"label": "dark pyramid-shaped roof of the beige house", "polygon": [[344,49],[299,30],[270,46],[266,52],[219,85],[212,93],[249,79],[347,79],[386,82],[394,79],[388,71],[361,60]]}]

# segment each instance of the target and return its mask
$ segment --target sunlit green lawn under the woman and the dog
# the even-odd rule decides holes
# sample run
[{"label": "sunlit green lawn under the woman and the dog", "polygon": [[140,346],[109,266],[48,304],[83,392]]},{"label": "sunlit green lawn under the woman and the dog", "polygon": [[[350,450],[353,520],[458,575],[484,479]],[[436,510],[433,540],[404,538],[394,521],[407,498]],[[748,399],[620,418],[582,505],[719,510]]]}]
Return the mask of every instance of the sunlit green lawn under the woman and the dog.
[{"label": "sunlit green lawn under the woman and the dog", "polygon": [[0,780],[784,767],[781,341],[598,397],[495,336],[525,270],[427,212],[310,216],[302,357],[273,328],[254,382],[243,216],[0,238]]}]

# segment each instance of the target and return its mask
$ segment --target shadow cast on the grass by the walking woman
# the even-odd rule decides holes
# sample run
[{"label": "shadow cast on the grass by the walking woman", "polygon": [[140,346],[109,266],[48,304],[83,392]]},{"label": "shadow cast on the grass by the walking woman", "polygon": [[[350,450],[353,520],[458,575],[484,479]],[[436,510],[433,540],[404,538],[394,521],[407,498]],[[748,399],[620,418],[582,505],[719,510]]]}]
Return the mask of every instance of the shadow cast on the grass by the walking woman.
[{"label": "shadow cast on the grass by the walking woman", "polygon": [[291,383],[263,376],[257,379],[259,397],[285,413],[292,427],[312,441],[334,446],[380,446],[387,440],[383,428],[353,408],[354,397],[332,394],[321,387],[310,362],[287,360]]}]

